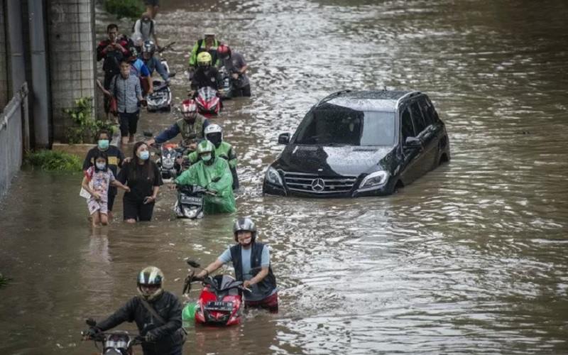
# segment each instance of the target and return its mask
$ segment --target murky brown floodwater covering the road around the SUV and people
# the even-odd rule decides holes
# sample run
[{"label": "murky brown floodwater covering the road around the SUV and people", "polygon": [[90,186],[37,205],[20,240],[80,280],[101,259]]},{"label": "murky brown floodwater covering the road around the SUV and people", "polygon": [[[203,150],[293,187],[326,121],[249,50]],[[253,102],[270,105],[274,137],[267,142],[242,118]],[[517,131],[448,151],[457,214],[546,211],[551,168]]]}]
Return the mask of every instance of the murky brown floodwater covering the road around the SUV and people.
[{"label": "murky brown floodwater covering the road around the SUV and people", "polygon": [[[278,315],[192,327],[187,354],[568,353],[566,1],[162,2],[176,102],[200,29],[249,61],[254,97],[217,121],[239,153],[239,215],[270,244],[280,286]],[[329,92],[383,87],[430,95],[449,164],[390,197],[261,194],[278,133]],[[140,131],[172,121],[147,114]],[[182,259],[209,263],[232,242],[237,214],[175,220],[165,189],[153,222],[92,231],[80,178],[23,171],[1,204],[1,354],[91,354],[84,319],[135,295],[143,266],[180,295]]]}]

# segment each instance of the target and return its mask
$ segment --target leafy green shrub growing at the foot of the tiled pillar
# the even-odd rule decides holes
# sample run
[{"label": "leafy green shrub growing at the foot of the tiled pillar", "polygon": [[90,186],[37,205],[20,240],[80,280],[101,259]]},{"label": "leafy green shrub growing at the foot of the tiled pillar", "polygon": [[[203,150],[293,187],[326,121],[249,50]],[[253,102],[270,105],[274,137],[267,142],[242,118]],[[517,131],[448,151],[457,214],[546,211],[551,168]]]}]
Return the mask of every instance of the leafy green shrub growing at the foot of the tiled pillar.
[{"label": "leafy green shrub growing at the foot of the tiled pillar", "polygon": [[92,101],[92,97],[81,97],[75,100],[74,108],[63,110],[75,124],[67,128],[67,143],[94,143],[101,129],[107,129],[111,134],[114,131],[111,124],[93,118]]}]

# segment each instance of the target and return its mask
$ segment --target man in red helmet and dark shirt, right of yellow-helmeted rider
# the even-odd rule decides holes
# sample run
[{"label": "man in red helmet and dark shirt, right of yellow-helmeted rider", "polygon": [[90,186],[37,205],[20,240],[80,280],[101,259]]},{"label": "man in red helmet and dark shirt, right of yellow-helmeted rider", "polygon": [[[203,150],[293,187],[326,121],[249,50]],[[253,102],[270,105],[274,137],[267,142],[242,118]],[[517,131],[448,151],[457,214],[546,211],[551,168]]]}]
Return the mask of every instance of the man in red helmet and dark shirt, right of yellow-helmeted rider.
[{"label": "man in red helmet and dark shirt, right of yellow-helmeted rider", "polygon": [[231,75],[231,92],[230,97],[251,97],[251,84],[249,77],[246,76],[246,70],[249,65],[246,64],[241,53],[231,51],[228,45],[219,45],[217,55],[221,62],[221,67],[225,67],[226,72]]}]

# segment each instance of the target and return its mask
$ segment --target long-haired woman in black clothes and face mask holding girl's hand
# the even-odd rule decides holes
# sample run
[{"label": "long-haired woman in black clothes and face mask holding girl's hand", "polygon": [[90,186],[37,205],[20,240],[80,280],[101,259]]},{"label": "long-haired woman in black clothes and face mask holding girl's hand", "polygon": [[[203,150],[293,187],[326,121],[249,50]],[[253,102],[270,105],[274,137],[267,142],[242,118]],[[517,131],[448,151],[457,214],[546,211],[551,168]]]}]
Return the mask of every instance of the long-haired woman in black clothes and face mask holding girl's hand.
[{"label": "long-haired woman in black clothes and face mask holding girl's hand", "polygon": [[130,192],[125,193],[122,199],[124,221],[150,221],[155,199],[163,185],[162,175],[158,166],[150,160],[146,143],[135,143],[132,157],[122,166],[118,177],[120,182],[130,187]]}]

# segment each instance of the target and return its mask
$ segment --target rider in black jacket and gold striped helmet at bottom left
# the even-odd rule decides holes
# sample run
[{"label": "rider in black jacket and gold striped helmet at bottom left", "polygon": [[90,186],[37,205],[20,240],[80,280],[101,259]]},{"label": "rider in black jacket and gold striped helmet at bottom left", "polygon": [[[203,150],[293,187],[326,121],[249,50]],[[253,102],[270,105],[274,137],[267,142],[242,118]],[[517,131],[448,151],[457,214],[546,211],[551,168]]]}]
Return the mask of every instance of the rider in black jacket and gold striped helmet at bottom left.
[{"label": "rider in black jacket and gold striped helmet at bottom left", "polygon": [[131,298],[113,315],[84,333],[92,338],[121,323],[136,322],[144,338],[144,355],[181,355],[186,334],[182,329],[182,304],[173,293],[163,290],[163,280],[164,275],[159,268],[144,268],[138,274],[140,295]]}]

